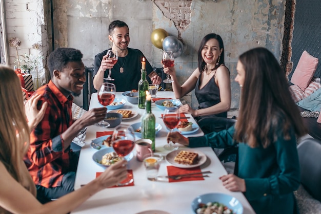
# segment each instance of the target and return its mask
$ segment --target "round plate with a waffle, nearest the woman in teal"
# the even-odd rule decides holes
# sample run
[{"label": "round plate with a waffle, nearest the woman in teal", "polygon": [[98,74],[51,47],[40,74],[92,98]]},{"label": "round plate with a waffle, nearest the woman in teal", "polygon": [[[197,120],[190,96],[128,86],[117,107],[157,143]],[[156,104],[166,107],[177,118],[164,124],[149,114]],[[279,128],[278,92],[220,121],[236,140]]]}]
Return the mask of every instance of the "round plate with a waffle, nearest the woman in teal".
[{"label": "round plate with a waffle, nearest the woman in teal", "polygon": [[166,155],[166,160],[178,168],[193,168],[206,162],[206,155],[195,149],[183,148]]}]

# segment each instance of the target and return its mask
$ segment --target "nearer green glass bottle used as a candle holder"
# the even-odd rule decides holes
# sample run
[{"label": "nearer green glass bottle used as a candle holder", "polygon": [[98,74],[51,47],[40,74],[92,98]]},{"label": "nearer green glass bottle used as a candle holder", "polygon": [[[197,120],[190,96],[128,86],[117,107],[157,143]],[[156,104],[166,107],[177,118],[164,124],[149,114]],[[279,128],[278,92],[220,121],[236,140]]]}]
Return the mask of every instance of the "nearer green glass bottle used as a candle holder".
[{"label": "nearer green glass bottle used as a candle holder", "polygon": [[155,116],[152,113],[150,95],[146,98],[146,112],[142,117],[142,138],[152,141],[152,151],[155,152]]}]

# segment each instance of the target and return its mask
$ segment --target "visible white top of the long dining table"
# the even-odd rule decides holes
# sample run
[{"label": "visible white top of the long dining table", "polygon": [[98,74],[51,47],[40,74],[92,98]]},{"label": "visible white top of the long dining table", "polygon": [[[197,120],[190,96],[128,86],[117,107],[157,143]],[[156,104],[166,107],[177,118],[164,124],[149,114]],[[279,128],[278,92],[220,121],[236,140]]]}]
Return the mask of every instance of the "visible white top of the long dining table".
[{"label": "visible white top of the long dining table", "polygon": [[[133,124],[141,122],[145,109],[139,109],[137,104],[131,104],[121,92],[116,93],[116,98],[126,101],[122,109],[129,109],[137,115],[131,119],[123,120],[122,124]],[[157,98],[174,98],[173,92],[158,92]],[[90,100],[89,109],[98,108],[102,105],[98,103],[97,93],[93,93]],[[109,111],[108,111],[109,112]],[[158,109],[155,103],[152,103],[152,113],[155,115],[156,123],[162,125],[162,129],[156,135],[155,153],[164,156],[160,164],[159,178],[165,178],[168,175],[167,166],[171,165],[166,160],[166,151],[163,146],[167,143],[166,136],[169,132],[161,119],[164,111]],[[197,124],[191,115],[188,121]],[[114,128],[103,128],[95,125],[87,127],[85,146],[82,147],[78,161],[78,168],[75,179],[75,189],[81,188],[82,185],[90,182],[96,177],[97,172],[104,172],[106,167],[99,166],[92,159],[93,154],[97,151],[90,146],[92,140],[96,139],[96,132],[113,131]],[[204,133],[198,129],[196,132],[186,135],[202,136]],[[138,138],[137,138],[138,139]],[[179,144],[179,148],[187,148]],[[134,157],[128,162],[128,169],[132,169],[134,185],[106,188],[97,192],[81,206],[77,207],[72,213],[195,213],[191,208],[192,201],[199,195],[210,192],[219,192],[228,194],[238,199],[244,207],[243,213],[255,213],[246,200],[242,192],[233,192],[226,189],[220,176],[226,175],[227,172],[219,161],[211,147],[193,148],[196,152],[206,155],[206,162],[200,165],[202,171],[210,170],[212,173],[207,174],[209,177],[205,180],[169,182],[168,179],[159,181],[149,181],[146,177],[144,164],[136,160],[135,148]]]}]

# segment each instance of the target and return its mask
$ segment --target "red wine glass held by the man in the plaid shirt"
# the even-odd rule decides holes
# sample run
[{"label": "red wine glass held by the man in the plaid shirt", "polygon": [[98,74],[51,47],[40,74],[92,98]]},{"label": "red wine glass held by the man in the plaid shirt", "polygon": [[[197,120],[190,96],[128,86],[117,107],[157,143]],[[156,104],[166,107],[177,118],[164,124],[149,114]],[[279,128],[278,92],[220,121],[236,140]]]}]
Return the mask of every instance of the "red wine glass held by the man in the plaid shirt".
[{"label": "red wine glass held by the man in the plaid shirt", "polygon": [[[101,103],[105,107],[107,105],[110,105],[114,101],[115,95],[116,95],[116,86],[114,83],[110,83],[110,82],[104,82],[101,86],[101,89],[97,93],[99,103]],[[106,108],[106,111],[107,111],[107,108]],[[109,122],[105,120],[95,123],[95,125],[106,127],[106,128],[110,126]]]}]

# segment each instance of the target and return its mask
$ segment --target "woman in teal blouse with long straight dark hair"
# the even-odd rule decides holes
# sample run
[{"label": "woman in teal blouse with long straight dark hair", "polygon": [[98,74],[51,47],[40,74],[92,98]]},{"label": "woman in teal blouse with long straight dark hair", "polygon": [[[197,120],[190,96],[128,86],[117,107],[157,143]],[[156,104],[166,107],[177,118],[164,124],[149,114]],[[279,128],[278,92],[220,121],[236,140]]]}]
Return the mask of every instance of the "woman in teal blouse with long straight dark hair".
[{"label": "woman in teal blouse with long straight dark hair", "polygon": [[255,48],[239,56],[235,81],[242,88],[235,126],[202,137],[179,133],[168,140],[190,147],[224,148],[238,143],[238,174],[220,177],[242,191],[256,213],[295,213],[300,183],[296,137],[307,133],[274,55]]}]

